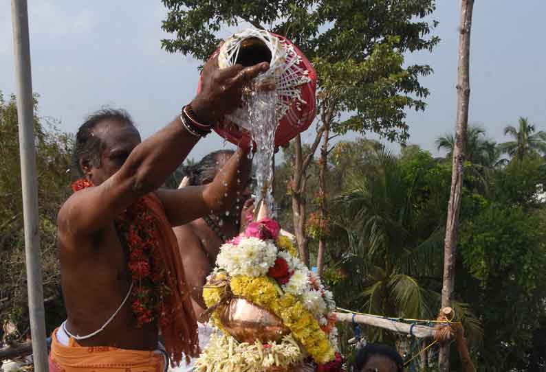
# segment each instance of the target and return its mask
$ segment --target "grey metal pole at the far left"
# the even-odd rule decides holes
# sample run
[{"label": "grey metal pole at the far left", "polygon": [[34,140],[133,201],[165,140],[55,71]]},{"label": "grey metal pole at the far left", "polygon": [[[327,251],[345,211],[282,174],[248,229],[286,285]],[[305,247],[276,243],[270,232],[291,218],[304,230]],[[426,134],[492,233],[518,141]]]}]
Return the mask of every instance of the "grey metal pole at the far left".
[{"label": "grey metal pole at the far left", "polygon": [[27,266],[28,310],[34,371],[47,372],[45,312],[43,308],[40,237],[38,231],[38,191],[36,153],[34,150],[34,102],[30,73],[30,42],[26,0],[12,0],[15,78],[17,80],[17,117],[19,118],[19,153],[23,217],[25,222],[25,257]]}]

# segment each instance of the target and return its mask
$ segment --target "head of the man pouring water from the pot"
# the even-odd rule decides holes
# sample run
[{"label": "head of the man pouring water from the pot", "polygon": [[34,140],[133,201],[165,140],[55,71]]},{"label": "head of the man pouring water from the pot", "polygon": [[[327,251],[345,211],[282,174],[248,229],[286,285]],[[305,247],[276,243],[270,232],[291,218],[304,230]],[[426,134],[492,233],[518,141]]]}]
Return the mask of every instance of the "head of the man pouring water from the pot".
[{"label": "head of the man pouring water from the pot", "polygon": [[140,142],[129,113],[112,108],[96,111],[78,128],[73,168],[79,177],[100,185],[120,169]]}]

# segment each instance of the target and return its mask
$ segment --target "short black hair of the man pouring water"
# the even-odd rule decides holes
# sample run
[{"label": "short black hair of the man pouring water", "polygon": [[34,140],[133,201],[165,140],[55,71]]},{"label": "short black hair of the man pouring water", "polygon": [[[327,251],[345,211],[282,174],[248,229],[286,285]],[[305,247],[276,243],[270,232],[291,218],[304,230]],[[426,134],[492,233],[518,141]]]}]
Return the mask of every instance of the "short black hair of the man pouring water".
[{"label": "short black hair of the man pouring water", "polygon": [[72,151],[72,168],[79,177],[83,177],[83,170],[80,167],[80,159],[87,159],[94,165],[100,165],[100,154],[104,150],[104,142],[93,134],[94,128],[102,121],[113,121],[119,124],[133,124],[133,119],[127,111],[119,108],[101,108],[95,111],[83,123],[76,133],[76,143]]}]

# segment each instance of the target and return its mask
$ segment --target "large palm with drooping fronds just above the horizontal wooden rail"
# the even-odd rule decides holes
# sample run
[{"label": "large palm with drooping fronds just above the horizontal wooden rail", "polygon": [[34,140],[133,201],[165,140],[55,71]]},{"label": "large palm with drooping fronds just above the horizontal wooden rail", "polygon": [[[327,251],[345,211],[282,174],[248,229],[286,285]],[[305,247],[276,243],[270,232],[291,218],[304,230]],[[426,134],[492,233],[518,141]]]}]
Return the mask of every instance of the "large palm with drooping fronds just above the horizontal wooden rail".
[{"label": "large palm with drooping fronds just above the horizontal wooden rail", "polygon": [[[345,216],[338,224],[352,232],[346,255],[353,257],[351,281],[360,297],[353,294],[351,305],[369,314],[434,318],[440,296],[428,282],[441,278],[444,229],[441,218],[429,213],[441,209],[423,208],[419,185],[425,172],[408,177],[399,160],[386,150],[377,150],[360,168],[336,198]],[[475,320],[463,305],[455,306]],[[386,336],[378,329],[369,332],[372,339]]]}]

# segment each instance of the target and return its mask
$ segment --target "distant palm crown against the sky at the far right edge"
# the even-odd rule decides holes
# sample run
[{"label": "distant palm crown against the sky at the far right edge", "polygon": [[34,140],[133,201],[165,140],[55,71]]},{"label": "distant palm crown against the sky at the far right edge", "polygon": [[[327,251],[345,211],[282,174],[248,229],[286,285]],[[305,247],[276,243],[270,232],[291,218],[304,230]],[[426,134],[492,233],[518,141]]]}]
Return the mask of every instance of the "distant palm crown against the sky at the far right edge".
[{"label": "distant palm crown against the sky at the far right edge", "polygon": [[504,128],[504,135],[510,135],[513,141],[499,144],[499,150],[508,154],[512,159],[516,157],[522,160],[527,155],[546,154],[546,132],[536,130],[533,124],[529,123],[527,117],[520,117],[518,128],[507,126]]}]

